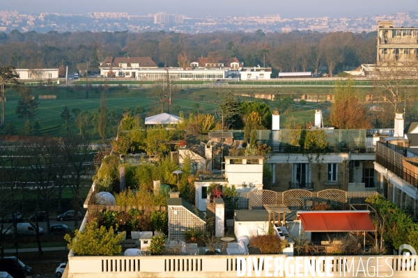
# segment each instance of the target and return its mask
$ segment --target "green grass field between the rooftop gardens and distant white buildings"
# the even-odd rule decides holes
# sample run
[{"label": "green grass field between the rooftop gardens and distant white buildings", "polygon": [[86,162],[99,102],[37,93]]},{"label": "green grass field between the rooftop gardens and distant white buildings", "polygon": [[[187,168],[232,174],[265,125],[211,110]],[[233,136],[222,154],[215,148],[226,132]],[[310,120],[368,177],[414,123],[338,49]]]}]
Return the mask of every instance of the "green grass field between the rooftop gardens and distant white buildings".
[{"label": "green grass field between the rooftop gardens and distant white buildings", "polygon": [[[246,94],[247,96],[238,96],[239,101],[263,101],[272,106],[272,101],[265,99],[257,99],[254,97],[256,94],[277,94],[277,95],[293,95],[293,98],[300,99],[302,94],[308,95],[327,95],[332,92],[332,88],[251,88],[251,89],[229,89],[229,88],[197,88],[197,89],[181,89],[176,95],[173,95],[171,101],[171,111],[175,115],[178,115],[179,111],[188,113],[194,109],[195,103],[201,104],[199,109],[202,113],[214,113],[218,108],[220,96],[233,90],[237,95]],[[364,92],[368,89],[363,89]],[[100,106],[100,92],[98,88],[93,88],[88,92],[88,99],[86,99],[85,90],[75,90],[73,87],[53,86],[53,87],[32,87],[32,92],[36,100],[39,102],[38,116],[40,120],[40,134],[47,133],[51,136],[60,136],[66,132],[67,124],[61,119],[61,113],[64,106],[67,106],[72,111],[72,108],[79,108],[82,111],[97,112]],[[137,106],[144,108],[145,113],[141,115],[144,119],[150,113],[148,113],[151,106],[159,106],[158,100],[155,97],[150,96],[150,90],[140,89],[127,89],[125,87],[115,86],[109,88],[107,92],[107,110],[114,109],[117,113],[122,113],[125,108],[131,108],[134,110]],[[56,95],[54,100],[38,100],[39,95]],[[22,133],[24,123],[26,120],[19,119],[15,113],[17,101],[20,100],[20,94],[12,89],[6,90],[6,123],[12,122],[16,127],[17,134]],[[314,109],[321,103],[310,103],[310,108],[300,108],[305,111],[308,109]],[[296,106],[295,106],[296,108]],[[295,110],[293,108],[293,111]],[[304,120],[304,112],[293,112],[292,115],[295,118]],[[310,113],[309,113],[310,114]],[[311,113],[312,115],[314,113]],[[287,116],[290,117],[290,116]],[[292,117],[292,118],[293,118]],[[286,116],[285,116],[286,118]],[[297,120],[297,122],[300,122]],[[31,120],[33,123],[34,120]],[[116,124],[116,123],[115,123]],[[68,131],[71,133],[79,133],[75,120],[68,121]],[[93,126],[88,128],[96,140],[98,140],[98,132],[93,129]],[[115,136],[112,134],[111,136]]]}]

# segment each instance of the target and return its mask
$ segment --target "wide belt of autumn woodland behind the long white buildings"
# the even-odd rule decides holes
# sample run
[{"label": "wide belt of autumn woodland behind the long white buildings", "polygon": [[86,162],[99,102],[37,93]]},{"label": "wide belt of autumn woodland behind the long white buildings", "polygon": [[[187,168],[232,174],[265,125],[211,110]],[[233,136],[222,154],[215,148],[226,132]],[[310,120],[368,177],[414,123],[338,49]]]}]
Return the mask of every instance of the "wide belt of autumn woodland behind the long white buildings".
[{"label": "wide belt of autumn woodland behind the long white buildings", "polygon": [[149,56],[164,67],[189,66],[193,57],[216,63],[237,57],[245,66],[272,66],[281,72],[318,71],[326,65],[355,67],[376,62],[376,32],[372,33],[202,33],[146,32],[0,33],[0,65],[43,68],[90,62],[95,70],[107,56]]}]

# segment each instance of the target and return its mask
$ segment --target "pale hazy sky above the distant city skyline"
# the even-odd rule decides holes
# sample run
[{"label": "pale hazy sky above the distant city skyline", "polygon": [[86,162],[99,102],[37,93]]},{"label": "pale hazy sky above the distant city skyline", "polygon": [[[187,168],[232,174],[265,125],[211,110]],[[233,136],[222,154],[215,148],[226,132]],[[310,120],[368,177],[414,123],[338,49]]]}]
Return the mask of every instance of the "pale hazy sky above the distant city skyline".
[{"label": "pale hazy sky above the distant city skyline", "polygon": [[[417,0],[0,0],[1,10],[25,14],[125,12],[129,15],[167,12],[189,17],[263,16],[355,17],[418,10]],[[396,3],[396,4],[395,4]]]}]

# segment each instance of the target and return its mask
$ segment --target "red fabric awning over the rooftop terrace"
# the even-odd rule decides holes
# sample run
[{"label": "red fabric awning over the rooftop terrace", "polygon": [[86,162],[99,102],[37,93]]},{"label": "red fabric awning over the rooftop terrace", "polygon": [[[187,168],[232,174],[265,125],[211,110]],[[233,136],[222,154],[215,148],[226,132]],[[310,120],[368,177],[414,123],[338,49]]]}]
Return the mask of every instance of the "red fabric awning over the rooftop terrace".
[{"label": "red fabric awning over the rooftop terrace", "polygon": [[376,231],[369,211],[298,211],[304,231]]}]

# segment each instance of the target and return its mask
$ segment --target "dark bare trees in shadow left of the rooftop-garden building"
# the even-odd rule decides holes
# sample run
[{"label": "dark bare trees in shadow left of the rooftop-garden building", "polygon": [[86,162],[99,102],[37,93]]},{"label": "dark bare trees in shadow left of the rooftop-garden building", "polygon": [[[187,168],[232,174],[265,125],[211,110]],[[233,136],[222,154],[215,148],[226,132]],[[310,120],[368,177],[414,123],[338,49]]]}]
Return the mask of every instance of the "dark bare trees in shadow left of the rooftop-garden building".
[{"label": "dark bare trees in shadow left of the rooftop-garden building", "polygon": [[[6,215],[15,211],[21,211],[24,215],[45,211],[49,232],[51,202],[57,197],[58,210],[61,210],[61,195],[65,187],[72,191],[72,208],[77,215],[84,202],[80,188],[84,177],[91,170],[91,152],[91,141],[88,138],[70,134],[62,138],[32,138],[29,142],[15,142],[1,148],[0,217],[5,219]],[[27,198],[30,194],[35,202],[34,206],[28,207],[25,196]],[[38,230],[37,218],[35,226]],[[75,227],[78,227],[77,218]],[[0,237],[3,237],[3,232]],[[37,239],[39,252],[42,253],[38,233]],[[0,248],[3,252],[3,245]]]}]

